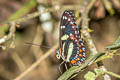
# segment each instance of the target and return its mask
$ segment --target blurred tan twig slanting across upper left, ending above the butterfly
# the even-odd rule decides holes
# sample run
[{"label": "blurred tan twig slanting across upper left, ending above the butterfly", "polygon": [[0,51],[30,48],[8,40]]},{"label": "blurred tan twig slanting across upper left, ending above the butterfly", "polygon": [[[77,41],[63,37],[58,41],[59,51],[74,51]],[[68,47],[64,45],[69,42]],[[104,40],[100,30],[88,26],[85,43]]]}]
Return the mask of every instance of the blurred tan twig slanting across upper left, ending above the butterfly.
[{"label": "blurred tan twig slanting across upper left, ending above the butterfly", "polygon": [[[74,6],[74,7],[73,7]],[[6,21],[4,22],[3,24],[0,24],[0,27],[2,26],[8,26],[9,23],[11,22],[14,22],[14,23],[21,23],[21,22],[25,22],[27,20],[30,20],[30,19],[33,19],[35,17],[38,17],[40,14],[43,14],[43,13],[46,13],[46,12],[53,12],[53,11],[58,11],[60,10],[61,8],[63,10],[66,10],[66,9],[74,9],[74,10],[78,10],[80,9],[80,5],[55,5],[53,7],[50,7],[50,8],[46,8],[45,10],[41,11],[41,12],[34,12],[34,13],[31,13],[31,14],[28,14],[24,17],[21,17],[21,18],[18,18],[18,19],[15,19],[15,20],[10,20],[10,21]]]}]

